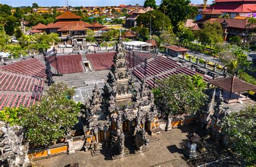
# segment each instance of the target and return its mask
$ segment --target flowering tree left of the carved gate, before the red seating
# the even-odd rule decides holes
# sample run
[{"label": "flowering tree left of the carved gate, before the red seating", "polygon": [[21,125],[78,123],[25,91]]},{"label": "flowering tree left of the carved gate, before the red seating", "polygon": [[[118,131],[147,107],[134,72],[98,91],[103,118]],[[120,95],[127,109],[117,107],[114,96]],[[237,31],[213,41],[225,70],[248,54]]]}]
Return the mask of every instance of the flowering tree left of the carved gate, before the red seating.
[{"label": "flowering tree left of the carved gate, before the red seating", "polygon": [[75,90],[63,82],[56,82],[46,90],[38,104],[19,112],[25,139],[35,146],[49,146],[78,122],[80,104],[71,97]]}]

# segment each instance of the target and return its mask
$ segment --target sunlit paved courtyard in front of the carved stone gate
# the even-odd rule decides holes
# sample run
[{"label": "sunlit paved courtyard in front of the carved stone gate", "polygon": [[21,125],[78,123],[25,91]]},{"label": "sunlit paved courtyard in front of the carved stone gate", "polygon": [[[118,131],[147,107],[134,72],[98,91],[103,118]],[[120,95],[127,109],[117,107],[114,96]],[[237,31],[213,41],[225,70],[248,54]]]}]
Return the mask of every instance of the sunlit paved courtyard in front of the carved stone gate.
[{"label": "sunlit paved courtyard in front of the carved stone gate", "polygon": [[115,160],[104,155],[92,157],[91,151],[77,151],[73,155],[60,155],[49,159],[36,161],[36,166],[65,166],[79,163],[79,166],[188,166],[184,160],[180,143],[187,139],[191,126],[173,129],[171,132],[161,132],[160,140],[149,143],[149,151]]}]

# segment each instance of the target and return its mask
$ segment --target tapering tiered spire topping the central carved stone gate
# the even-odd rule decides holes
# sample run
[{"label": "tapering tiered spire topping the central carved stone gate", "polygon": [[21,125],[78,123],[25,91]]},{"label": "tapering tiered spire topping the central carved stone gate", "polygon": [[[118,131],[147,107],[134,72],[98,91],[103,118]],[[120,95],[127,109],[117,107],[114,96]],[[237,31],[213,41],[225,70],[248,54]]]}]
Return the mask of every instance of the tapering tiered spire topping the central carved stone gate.
[{"label": "tapering tiered spire topping the central carved stone gate", "polygon": [[117,101],[129,100],[132,97],[131,85],[129,85],[129,70],[126,69],[126,60],[124,53],[124,45],[120,32],[119,42],[116,45],[116,54],[114,55],[114,66],[112,72],[114,74],[113,91]]}]

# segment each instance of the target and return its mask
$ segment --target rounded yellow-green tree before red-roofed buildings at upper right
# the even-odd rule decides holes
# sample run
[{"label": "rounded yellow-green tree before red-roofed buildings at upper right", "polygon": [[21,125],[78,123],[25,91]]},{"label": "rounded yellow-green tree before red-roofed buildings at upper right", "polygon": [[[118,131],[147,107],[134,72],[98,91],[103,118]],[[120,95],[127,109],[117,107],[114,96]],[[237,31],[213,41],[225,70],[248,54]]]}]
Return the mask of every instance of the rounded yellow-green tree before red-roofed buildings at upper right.
[{"label": "rounded yellow-green tree before red-roofed buildings at upper right", "polygon": [[198,32],[198,41],[203,45],[214,45],[223,41],[223,29],[219,23],[206,23]]}]

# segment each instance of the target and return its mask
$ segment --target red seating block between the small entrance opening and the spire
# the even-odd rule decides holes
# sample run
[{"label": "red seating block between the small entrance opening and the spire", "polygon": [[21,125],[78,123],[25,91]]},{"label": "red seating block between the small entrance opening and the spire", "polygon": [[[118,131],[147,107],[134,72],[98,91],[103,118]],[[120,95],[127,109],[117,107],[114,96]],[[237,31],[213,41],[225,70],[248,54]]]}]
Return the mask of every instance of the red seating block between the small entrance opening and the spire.
[{"label": "red seating block between the small entrance opening and the spire", "polygon": [[116,52],[103,52],[86,54],[87,60],[92,64],[94,70],[110,69]]}]

